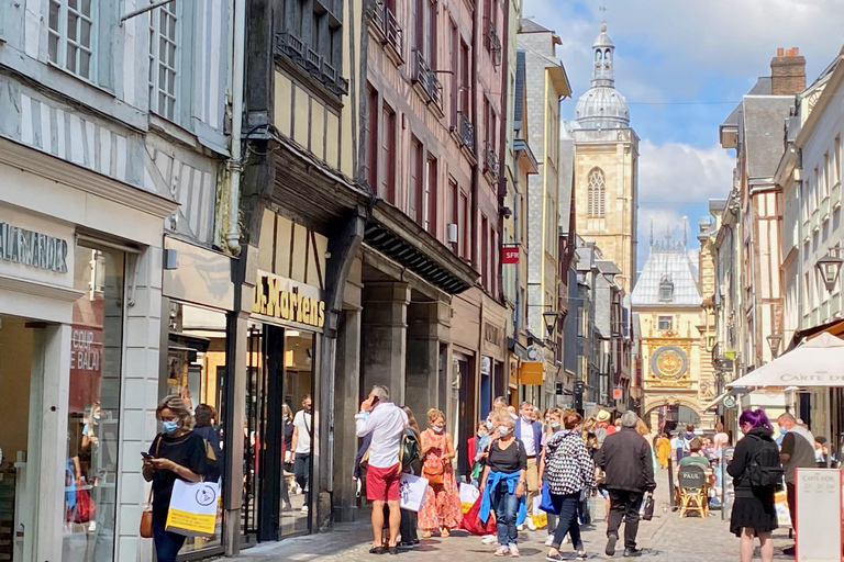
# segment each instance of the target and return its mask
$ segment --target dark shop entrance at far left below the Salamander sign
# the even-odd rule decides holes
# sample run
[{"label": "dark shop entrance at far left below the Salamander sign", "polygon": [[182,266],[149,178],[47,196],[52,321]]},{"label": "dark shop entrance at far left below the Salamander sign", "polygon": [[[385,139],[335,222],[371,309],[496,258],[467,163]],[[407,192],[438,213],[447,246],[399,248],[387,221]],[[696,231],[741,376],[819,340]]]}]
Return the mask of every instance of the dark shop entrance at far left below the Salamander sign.
[{"label": "dark shop entrance at far left below the Salamander sign", "polygon": [[0,560],[32,558],[37,484],[37,412],[43,384],[43,327],[0,316]]}]

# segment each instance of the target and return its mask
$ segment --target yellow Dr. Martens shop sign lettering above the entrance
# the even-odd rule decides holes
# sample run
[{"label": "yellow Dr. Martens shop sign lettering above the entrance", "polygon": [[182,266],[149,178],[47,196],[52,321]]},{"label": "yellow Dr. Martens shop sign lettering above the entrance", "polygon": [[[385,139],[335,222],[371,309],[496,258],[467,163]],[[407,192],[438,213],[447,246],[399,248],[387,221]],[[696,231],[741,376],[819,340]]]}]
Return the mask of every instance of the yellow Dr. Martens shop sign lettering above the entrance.
[{"label": "yellow Dr. Martens shop sign lettering above the entrance", "polygon": [[325,301],[319,289],[264,271],[258,271],[252,312],[316,328],[325,324]]}]

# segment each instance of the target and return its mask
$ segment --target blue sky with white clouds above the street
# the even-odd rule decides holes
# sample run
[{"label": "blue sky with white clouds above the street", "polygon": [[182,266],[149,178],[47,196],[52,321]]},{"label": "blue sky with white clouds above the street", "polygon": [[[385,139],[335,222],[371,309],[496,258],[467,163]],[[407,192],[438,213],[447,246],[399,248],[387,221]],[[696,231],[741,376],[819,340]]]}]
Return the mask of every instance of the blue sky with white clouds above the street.
[{"label": "blue sky with white clouds above the street", "polygon": [[[759,76],[777,47],[799,47],[811,83],[844,43],[844,0],[524,0],[524,16],[557,32],[574,100],[589,89],[591,44],[607,7],[615,44],[615,87],[641,138],[640,267],[649,217],[656,233],[681,232],[690,248],[708,200],[730,191],[735,155],[718,144],[718,125]],[[729,103],[728,103],[729,102]]]}]

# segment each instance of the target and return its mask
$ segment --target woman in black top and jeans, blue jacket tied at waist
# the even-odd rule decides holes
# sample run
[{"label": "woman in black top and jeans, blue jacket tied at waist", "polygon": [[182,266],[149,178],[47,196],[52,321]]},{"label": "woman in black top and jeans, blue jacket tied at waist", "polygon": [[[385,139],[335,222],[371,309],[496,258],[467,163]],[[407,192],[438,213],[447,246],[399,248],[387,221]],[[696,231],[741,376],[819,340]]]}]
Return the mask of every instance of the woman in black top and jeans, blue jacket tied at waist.
[{"label": "woman in black top and jeans, blue jacket tied at waist", "polygon": [[496,438],[489,447],[484,476],[480,481],[480,510],[485,524],[490,509],[496,512],[498,531],[497,557],[519,557],[517,527],[526,516],[528,452],[524,443],[513,435],[515,420],[509,415],[496,419]]}]

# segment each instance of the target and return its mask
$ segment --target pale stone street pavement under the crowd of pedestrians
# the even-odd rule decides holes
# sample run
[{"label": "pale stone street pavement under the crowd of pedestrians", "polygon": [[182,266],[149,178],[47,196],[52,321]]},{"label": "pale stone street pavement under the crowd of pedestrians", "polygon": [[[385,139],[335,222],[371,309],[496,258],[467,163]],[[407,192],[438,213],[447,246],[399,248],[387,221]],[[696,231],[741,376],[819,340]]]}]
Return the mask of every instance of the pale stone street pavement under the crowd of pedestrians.
[{"label": "pale stone street pavement under the crowd of pedestrians", "polygon": [[[669,509],[668,475],[662,471],[657,475],[658,487],[655,493],[656,509],[651,521],[641,521],[637,546],[643,549],[642,559],[648,562],[718,562],[738,559],[738,539],[730,533],[729,522],[721,519],[721,512],[711,510],[707,518],[685,517]],[[603,553],[607,543],[607,524],[603,501],[596,503],[595,525],[582,527],[584,543],[589,560],[610,560]],[[623,528],[621,532],[623,537]],[[519,535],[521,558],[545,560],[548,549],[544,546],[546,530],[525,531]],[[397,559],[403,562],[456,562],[491,561],[493,547],[481,544],[480,538],[465,531],[454,531],[449,538],[434,537],[423,539],[419,550],[402,552],[398,557],[377,557],[369,554],[371,529],[368,521],[336,525],[326,533],[287,539],[280,542],[258,544],[231,559],[233,562],[374,562]],[[782,548],[791,544],[788,530],[780,529],[774,535],[774,560],[793,560],[782,554]],[[575,559],[570,544],[560,549],[565,558]],[[619,540],[615,559],[622,558],[623,538]],[[756,557],[758,555],[758,546]]]}]

